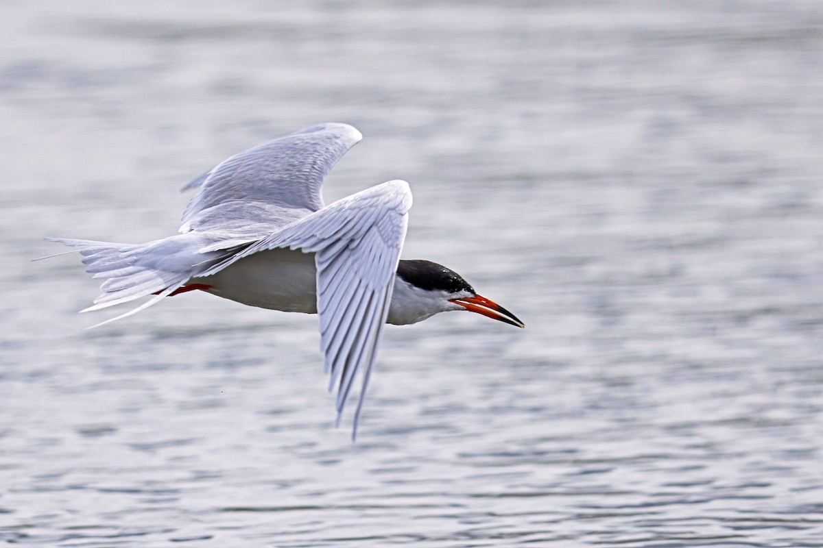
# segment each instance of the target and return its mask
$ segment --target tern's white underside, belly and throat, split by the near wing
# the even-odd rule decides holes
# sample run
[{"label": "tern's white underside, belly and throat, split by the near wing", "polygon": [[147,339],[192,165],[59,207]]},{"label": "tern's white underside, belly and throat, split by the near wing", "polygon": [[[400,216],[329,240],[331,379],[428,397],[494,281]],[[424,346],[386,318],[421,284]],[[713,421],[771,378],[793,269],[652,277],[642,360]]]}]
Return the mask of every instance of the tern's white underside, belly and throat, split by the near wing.
[{"label": "tern's white underside, belly and throat, split by the near wing", "polygon": [[[212,286],[210,293],[286,312],[317,313],[317,267],[314,253],[274,249],[260,251],[206,278],[191,280]],[[438,312],[463,310],[440,292],[423,291],[395,277],[389,324],[407,325]]]}]

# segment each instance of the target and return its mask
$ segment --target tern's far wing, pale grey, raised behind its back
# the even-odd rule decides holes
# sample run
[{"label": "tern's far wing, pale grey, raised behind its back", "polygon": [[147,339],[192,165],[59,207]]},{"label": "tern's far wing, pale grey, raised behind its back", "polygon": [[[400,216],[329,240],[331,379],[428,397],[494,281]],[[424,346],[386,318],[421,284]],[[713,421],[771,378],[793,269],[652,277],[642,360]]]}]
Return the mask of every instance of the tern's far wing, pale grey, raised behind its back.
[{"label": "tern's far wing, pale grey, raised behind its back", "polygon": [[180,232],[272,233],[320,210],[323,179],[362,137],[349,125],[325,123],[235,154],[184,187],[198,193]]}]

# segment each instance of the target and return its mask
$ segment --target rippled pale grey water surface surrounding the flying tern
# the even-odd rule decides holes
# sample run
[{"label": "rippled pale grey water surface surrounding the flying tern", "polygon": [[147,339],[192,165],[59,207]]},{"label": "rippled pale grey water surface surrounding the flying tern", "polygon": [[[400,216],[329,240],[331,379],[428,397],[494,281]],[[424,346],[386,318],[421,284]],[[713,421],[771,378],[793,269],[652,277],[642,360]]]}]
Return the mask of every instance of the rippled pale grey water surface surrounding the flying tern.
[{"label": "rippled pale grey water surface surrounding the flying tern", "polygon": [[[823,3],[2,2],[0,542],[823,546]],[[316,318],[125,320],[42,237],[174,233],[318,122],[327,202],[513,311],[388,326],[360,435]],[[351,410],[350,410],[351,412]]]}]

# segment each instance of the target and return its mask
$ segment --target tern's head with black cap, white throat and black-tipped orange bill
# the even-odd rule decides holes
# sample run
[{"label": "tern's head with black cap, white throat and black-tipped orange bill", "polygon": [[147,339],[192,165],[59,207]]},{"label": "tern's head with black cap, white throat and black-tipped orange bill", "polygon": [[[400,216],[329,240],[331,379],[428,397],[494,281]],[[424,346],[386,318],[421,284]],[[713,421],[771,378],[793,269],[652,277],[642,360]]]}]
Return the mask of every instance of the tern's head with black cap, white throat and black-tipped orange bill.
[{"label": "tern's head with black cap, white throat and black-tipped orange bill", "polygon": [[388,323],[414,324],[438,312],[470,311],[525,327],[517,316],[478,295],[460,274],[430,260],[401,260],[388,311]]}]

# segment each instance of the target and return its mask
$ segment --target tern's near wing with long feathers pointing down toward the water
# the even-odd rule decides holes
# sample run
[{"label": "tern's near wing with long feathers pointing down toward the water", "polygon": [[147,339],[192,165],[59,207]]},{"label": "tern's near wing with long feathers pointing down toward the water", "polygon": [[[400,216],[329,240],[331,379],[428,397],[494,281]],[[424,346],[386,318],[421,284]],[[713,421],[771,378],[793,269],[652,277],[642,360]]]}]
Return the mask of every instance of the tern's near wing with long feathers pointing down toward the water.
[{"label": "tern's near wing with long feathers pointing down toward the water", "polygon": [[325,370],[331,371],[329,389],[337,385],[338,422],[356,372],[363,371],[352,437],[388,315],[411,206],[407,182],[384,182],[309,214],[200,274],[215,274],[245,256],[278,247],[315,254],[320,346]]}]

